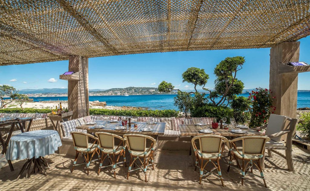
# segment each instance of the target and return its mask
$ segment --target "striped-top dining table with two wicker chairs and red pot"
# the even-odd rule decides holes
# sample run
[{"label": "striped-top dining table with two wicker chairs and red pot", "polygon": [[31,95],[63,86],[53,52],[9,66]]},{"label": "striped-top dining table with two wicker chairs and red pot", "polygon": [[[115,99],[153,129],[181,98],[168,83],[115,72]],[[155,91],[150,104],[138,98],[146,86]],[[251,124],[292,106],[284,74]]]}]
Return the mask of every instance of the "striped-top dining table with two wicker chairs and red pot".
[{"label": "striped-top dining table with two wicker chairs and red pot", "polygon": [[[213,132],[211,134],[220,135],[223,137],[244,137],[244,136],[265,136],[262,132],[252,130],[250,128],[242,129],[245,133],[233,133],[230,129],[213,129],[211,125],[179,125],[180,136],[190,136],[191,140],[194,136],[205,135],[205,133],[201,133],[200,130],[210,129]],[[193,147],[190,145],[189,155],[192,155]],[[193,162],[195,161],[195,155],[193,156]],[[261,166],[264,167],[264,156],[261,159]]]}]

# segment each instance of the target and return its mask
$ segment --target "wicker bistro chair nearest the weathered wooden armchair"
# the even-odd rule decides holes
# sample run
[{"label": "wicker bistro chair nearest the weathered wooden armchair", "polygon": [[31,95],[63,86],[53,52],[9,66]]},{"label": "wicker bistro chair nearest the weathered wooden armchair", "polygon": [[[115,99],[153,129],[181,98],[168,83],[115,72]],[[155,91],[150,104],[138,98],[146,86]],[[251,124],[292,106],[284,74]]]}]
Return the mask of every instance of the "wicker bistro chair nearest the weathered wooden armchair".
[{"label": "wicker bistro chair nearest the weathered wooden armchair", "polygon": [[[242,140],[242,151],[239,151],[235,144],[235,142],[239,140]],[[229,140],[230,157],[229,157],[227,171],[229,172],[229,168],[230,166],[232,166],[231,165],[232,160],[235,159],[237,162],[237,166],[241,171],[241,176],[242,176],[241,184],[242,185],[243,185],[244,177],[246,176],[247,173],[250,173],[263,179],[265,187],[267,188],[263,170],[260,165],[260,160],[263,157],[263,154],[265,152],[265,143],[269,140],[270,140],[269,137],[264,137],[264,136],[246,136],[246,137],[239,137],[236,139]],[[242,167],[240,166],[238,159],[242,160]],[[245,165],[245,162],[246,162],[246,165]],[[257,164],[255,164],[255,162]],[[259,170],[260,176],[253,173],[253,164]],[[235,167],[235,166],[232,166],[232,167]]]}]

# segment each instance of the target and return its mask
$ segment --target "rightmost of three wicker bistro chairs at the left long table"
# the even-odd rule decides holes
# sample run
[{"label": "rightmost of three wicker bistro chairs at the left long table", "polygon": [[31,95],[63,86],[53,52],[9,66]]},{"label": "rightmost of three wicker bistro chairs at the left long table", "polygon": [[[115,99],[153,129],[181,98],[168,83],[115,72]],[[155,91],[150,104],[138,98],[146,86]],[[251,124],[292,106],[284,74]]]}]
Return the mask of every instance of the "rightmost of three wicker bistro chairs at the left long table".
[{"label": "rightmost of three wicker bistro chairs at the left long table", "polygon": [[[130,172],[141,169],[142,171],[144,171],[145,182],[147,182],[147,167],[152,166],[152,170],[154,170],[154,150],[156,149],[156,139],[142,134],[124,134],[124,138],[126,139],[128,152],[130,153],[131,157],[128,168],[127,180],[129,178]],[[151,140],[151,145],[149,148],[147,148],[146,145],[147,139]],[[141,165],[136,163],[137,159],[139,159]],[[143,159],[143,161],[141,159]],[[133,164],[139,166],[139,168],[131,170],[131,166]]]}]

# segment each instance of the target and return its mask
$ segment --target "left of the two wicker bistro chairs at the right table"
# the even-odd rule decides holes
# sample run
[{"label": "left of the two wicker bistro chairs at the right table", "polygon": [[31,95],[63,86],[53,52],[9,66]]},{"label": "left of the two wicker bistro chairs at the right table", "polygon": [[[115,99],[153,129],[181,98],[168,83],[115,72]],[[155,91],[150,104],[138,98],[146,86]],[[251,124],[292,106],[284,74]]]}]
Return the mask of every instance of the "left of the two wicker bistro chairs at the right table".
[{"label": "left of the two wicker bistro chairs at the right table", "polygon": [[[199,140],[199,149],[195,143],[195,140],[197,139]],[[192,146],[196,155],[195,171],[197,170],[197,167],[200,169],[199,184],[201,184],[202,177],[213,174],[220,178],[222,186],[224,186],[221,168],[219,165],[219,160],[225,146],[223,143],[227,143],[227,139],[219,135],[200,135],[192,139]],[[209,162],[214,165],[214,168],[210,171],[205,169]],[[215,169],[218,171],[218,174],[212,172]],[[204,171],[206,171],[205,174]]]}]

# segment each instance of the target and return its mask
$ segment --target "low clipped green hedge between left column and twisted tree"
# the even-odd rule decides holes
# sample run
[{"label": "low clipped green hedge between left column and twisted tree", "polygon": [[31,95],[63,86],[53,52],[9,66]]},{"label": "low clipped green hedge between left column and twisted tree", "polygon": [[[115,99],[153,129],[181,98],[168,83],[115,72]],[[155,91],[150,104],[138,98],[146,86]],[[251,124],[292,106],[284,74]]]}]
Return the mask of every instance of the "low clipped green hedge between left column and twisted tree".
[{"label": "low clipped green hedge between left column and twisted tree", "polygon": [[176,110],[111,110],[111,109],[89,109],[90,115],[112,115],[112,116],[152,116],[152,117],[177,117]]}]

